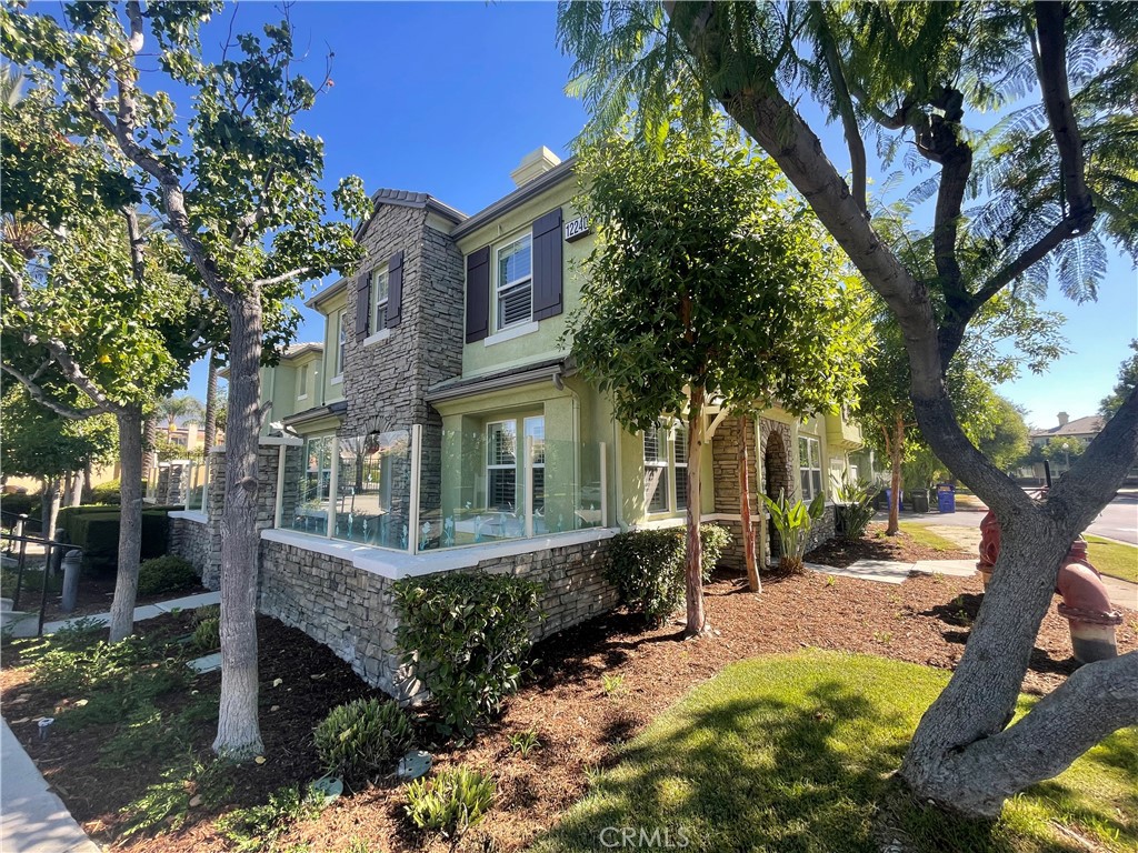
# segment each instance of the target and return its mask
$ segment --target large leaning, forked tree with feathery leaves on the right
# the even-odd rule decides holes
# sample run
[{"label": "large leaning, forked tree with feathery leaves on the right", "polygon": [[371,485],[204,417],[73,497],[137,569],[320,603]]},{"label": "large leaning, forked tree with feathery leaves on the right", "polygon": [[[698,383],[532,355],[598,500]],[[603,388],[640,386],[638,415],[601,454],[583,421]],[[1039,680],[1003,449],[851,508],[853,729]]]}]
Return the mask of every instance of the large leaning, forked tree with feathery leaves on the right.
[{"label": "large leaning, forked tree with feathery leaves on the right", "polygon": [[[909,788],[995,814],[1138,721],[1130,653],[1081,668],[1008,726],[1062,560],[1138,458],[1138,394],[1037,499],[968,440],[945,382],[993,297],[1057,280],[1072,298],[1092,298],[1107,242],[1138,254],[1138,16],[1125,3],[1054,2],[562,2],[559,11],[593,135],[635,101],[643,135],[659,139],[679,92],[687,121],[723,109],[770,154],[897,317],[925,440],[1004,522],[965,653],[902,762]],[[805,97],[820,107],[815,124],[798,109]],[[966,126],[992,110],[995,125]],[[843,151],[827,151],[822,121],[840,123]],[[932,278],[869,213],[867,135],[882,171],[899,158],[920,181]],[[848,180],[833,165],[839,154]]]}]

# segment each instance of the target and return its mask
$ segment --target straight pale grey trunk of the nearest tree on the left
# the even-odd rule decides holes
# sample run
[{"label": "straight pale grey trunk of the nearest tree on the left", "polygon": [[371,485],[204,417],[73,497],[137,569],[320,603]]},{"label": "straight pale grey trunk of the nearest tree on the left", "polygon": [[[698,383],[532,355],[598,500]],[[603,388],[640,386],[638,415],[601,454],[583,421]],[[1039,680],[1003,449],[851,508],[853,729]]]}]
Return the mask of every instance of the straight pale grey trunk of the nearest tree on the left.
[{"label": "straight pale grey trunk of the nearest tree on the left", "polygon": [[257,437],[261,432],[261,296],[230,298],[229,422],[221,533],[221,709],[213,748],[263,752],[257,723]]}]

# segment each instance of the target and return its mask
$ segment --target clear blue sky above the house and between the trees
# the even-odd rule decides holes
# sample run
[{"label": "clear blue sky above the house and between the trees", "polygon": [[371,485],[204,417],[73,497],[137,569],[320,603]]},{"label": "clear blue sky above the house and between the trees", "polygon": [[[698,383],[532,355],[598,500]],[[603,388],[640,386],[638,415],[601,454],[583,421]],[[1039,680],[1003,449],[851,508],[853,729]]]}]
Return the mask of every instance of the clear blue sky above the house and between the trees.
[{"label": "clear blue sky above the house and between the trees", "polygon": [[[274,5],[251,2],[236,15],[234,32],[280,17]],[[553,2],[299,2],[291,17],[298,47],[310,51],[310,76],[335,53],[335,85],[303,121],[327,144],[329,189],[357,174],[369,192],[430,192],[472,214],[513,188],[510,172],[525,154],[544,144],[568,156],[586,119],[563,91],[570,60],[556,49]],[[207,44],[224,38],[221,23],[207,27]],[[840,131],[820,135],[844,167]],[[1138,336],[1135,270],[1112,252],[1097,303],[1077,306],[1054,288],[1044,307],[1067,316],[1074,351],[1042,376],[999,390],[1028,408],[1029,423],[1050,426],[1059,411],[1094,414],[1113,387]],[[305,316],[300,340],[319,340],[319,315]],[[190,391],[203,397],[204,365],[192,371]]]}]

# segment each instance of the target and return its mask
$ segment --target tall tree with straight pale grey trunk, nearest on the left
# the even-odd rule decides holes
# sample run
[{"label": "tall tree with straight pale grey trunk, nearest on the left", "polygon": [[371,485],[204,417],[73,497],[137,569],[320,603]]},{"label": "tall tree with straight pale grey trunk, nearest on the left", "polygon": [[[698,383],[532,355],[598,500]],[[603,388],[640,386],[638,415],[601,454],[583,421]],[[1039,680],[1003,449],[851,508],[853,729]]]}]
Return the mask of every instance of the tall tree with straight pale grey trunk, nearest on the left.
[{"label": "tall tree with straight pale grey trunk, nearest on the left", "polygon": [[[214,748],[262,751],[255,622],[259,374],[266,312],[305,281],[360,256],[347,222],[329,222],[323,142],[296,125],[319,91],[296,67],[292,26],[226,41],[207,60],[200,32],[221,2],[75,3],[65,23],[6,7],[0,36],[20,65],[58,81],[73,134],[129,168],[130,191],[171,233],[229,325],[229,423],[222,524],[222,690]],[[223,27],[224,30],[224,27]],[[175,108],[170,90],[188,91]],[[358,179],[333,193],[351,218]],[[288,331],[288,330],[286,330]],[[124,478],[125,479],[125,478]]]}]

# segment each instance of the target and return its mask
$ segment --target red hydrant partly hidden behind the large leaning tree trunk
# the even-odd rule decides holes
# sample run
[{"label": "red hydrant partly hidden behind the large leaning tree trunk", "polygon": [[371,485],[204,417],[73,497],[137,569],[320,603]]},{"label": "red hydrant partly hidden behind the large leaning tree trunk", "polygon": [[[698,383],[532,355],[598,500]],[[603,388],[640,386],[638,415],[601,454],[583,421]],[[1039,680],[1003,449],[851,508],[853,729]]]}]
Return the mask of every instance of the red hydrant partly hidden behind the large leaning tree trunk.
[{"label": "red hydrant partly hidden behind the large leaning tree trunk", "polygon": [[[976,563],[984,588],[999,557],[1000,527],[991,511],[980,522],[980,560]],[[1111,597],[1098,570],[1087,560],[1087,543],[1080,537],[1063,558],[1055,591],[1063,597],[1057,611],[1071,627],[1071,648],[1079,663],[1118,656],[1115,629],[1122,614],[1111,606]]]}]

